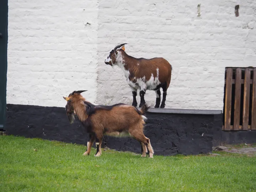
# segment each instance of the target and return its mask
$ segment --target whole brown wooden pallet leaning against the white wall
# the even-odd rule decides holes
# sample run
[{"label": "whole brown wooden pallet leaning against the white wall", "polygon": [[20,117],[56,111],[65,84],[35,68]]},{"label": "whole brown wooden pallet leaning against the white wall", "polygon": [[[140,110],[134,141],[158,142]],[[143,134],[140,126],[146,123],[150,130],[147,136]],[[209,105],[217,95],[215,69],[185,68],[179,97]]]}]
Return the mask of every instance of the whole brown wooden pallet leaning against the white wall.
[{"label": "whole brown wooden pallet leaning against the white wall", "polygon": [[226,68],[223,130],[256,130],[256,68]]}]

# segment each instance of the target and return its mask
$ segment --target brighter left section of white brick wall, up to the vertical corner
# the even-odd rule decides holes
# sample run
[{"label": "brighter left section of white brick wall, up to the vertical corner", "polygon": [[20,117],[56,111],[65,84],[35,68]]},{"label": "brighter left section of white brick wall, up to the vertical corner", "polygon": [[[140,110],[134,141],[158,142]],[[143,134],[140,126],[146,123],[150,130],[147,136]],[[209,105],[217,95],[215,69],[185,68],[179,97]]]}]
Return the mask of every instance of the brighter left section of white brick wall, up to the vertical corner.
[{"label": "brighter left section of white brick wall, up to the vertical corner", "polygon": [[62,96],[79,89],[95,101],[97,6],[9,0],[7,103],[63,107]]}]

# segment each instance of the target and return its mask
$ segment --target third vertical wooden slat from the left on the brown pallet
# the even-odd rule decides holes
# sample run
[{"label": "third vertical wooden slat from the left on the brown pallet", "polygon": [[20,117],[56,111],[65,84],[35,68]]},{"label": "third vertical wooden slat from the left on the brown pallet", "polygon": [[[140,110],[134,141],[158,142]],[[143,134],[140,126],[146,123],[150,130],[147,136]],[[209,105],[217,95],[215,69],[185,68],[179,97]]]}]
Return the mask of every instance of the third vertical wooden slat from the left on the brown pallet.
[{"label": "third vertical wooden slat from the left on the brown pallet", "polygon": [[250,102],[250,69],[245,69],[245,83],[244,83],[244,106],[243,106],[243,130],[248,130],[249,124],[249,102]]}]

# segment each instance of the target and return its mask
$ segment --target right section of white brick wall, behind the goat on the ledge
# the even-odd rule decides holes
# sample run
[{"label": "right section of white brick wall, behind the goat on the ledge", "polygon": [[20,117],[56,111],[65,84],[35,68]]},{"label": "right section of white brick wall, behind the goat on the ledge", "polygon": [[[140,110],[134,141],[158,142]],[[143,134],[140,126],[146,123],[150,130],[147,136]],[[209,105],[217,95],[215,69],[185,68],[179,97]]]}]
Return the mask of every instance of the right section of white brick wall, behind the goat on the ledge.
[{"label": "right section of white brick wall, behind the goat on the ledge", "polygon": [[[97,101],[132,103],[123,72],[103,62],[115,45],[128,43],[128,54],[164,57],[173,66],[166,107],[223,110],[225,67],[256,66],[256,2],[241,1],[235,17],[237,3],[100,0]],[[145,100],[154,103],[155,92],[147,91]]]}]

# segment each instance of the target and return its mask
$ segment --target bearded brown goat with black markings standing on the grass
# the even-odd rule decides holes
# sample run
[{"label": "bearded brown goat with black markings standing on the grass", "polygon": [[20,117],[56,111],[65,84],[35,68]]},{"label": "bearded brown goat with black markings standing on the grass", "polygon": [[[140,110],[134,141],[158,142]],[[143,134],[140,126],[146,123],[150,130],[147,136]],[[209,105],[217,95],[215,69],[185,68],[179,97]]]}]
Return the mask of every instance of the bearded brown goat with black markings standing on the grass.
[{"label": "bearded brown goat with black markings standing on the grass", "polygon": [[142,145],[142,157],[145,157],[149,151],[149,157],[153,158],[154,151],[150,140],[143,133],[144,119],[146,119],[143,114],[149,108],[147,105],[143,105],[140,110],[123,103],[112,106],[93,105],[80,95],[82,92],[84,91],[73,91],[68,97],[63,98],[67,101],[66,114],[70,124],[74,122],[74,114],[76,114],[89,133],[84,155],[90,154],[91,146],[96,140],[97,152],[94,156],[101,156],[103,135],[110,135],[137,139]]}]

